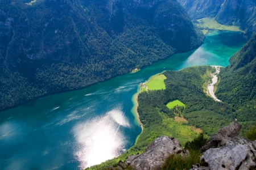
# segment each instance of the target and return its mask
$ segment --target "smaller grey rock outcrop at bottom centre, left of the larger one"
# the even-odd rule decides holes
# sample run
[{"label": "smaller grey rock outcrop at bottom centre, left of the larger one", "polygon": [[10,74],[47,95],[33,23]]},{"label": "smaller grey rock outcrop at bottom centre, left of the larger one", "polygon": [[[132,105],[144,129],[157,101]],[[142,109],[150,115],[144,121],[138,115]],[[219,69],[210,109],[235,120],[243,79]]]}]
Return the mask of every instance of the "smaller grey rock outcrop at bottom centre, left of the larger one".
[{"label": "smaller grey rock outcrop at bottom centre, left of the larger one", "polygon": [[119,163],[118,168],[123,169],[126,165],[131,165],[137,170],[160,169],[160,165],[172,154],[188,155],[188,152],[181,148],[179,141],[175,138],[161,136],[146,148],[144,154],[129,156],[125,165]]}]

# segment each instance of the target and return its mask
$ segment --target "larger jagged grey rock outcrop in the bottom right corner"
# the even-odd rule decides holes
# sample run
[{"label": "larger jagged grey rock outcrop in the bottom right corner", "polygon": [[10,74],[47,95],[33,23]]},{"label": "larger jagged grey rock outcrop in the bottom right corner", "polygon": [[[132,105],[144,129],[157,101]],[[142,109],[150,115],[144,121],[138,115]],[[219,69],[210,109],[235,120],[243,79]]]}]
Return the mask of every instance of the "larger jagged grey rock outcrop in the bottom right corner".
[{"label": "larger jagged grey rock outcrop in the bottom right corner", "polygon": [[193,169],[250,169],[256,167],[256,141],[237,137],[241,125],[237,121],[212,135],[205,145],[200,164]]}]

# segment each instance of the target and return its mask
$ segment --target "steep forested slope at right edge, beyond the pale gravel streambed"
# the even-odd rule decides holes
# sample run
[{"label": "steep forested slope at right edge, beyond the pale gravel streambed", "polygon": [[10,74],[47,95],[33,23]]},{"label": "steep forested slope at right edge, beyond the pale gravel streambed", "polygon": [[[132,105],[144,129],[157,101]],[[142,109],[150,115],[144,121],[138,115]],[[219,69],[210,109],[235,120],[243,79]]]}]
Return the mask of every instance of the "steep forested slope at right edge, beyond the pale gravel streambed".
[{"label": "steep forested slope at right edge, beyond the pale gravel streambed", "polygon": [[256,35],[230,58],[221,70],[216,96],[234,108],[234,116],[243,125],[256,120]]}]

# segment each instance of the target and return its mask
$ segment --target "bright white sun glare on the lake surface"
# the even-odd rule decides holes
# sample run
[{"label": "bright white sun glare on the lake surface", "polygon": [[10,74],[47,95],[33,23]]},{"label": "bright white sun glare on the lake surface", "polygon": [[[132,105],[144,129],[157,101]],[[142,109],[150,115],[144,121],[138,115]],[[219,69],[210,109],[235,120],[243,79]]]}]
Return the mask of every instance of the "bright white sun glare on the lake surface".
[{"label": "bright white sun glare on the lake surface", "polygon": [[120,126],[129,128],[129,121],[121,109],[113,109],[104,116],[73,128],[77,142],[75,156],[81,163],[81,168],[100,164],[121,154],[125,148],[126,138],[119,129]]}]

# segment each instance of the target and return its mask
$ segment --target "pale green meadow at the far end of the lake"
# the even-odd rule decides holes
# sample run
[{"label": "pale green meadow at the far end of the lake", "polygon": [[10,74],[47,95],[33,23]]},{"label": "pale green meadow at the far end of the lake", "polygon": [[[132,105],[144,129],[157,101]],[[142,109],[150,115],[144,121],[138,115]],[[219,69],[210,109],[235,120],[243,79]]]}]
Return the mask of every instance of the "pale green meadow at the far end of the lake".
[{"label": "pale green meadow at the far end of the lake", "polygon": [[214,18],[202,18],[197,19],[197,26],[204,28],[204,29],[220,29],[220,30],[229,30],[229,31],[240,31],[243,32],[237,26],[229,26],[229,25],[222,25],[218,23]]}]

